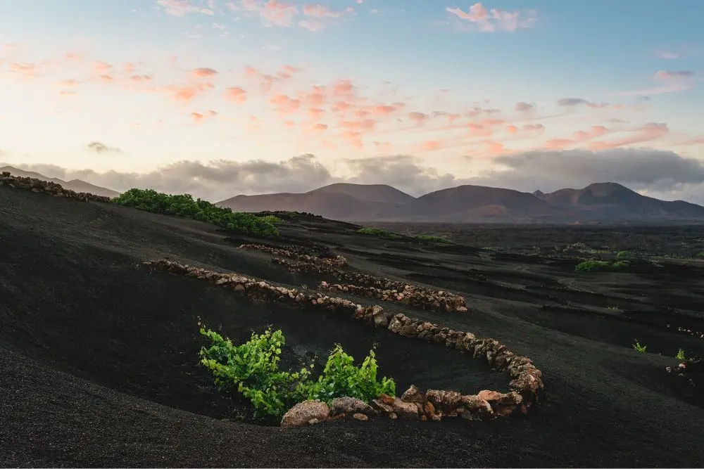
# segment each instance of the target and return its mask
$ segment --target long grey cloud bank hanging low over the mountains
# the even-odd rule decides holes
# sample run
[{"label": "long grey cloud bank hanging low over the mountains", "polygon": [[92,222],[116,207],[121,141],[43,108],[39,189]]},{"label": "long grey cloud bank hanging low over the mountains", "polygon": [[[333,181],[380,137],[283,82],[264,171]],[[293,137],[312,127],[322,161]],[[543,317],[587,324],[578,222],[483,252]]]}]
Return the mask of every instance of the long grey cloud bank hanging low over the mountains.
[{"label": "long grey cloud bank hanging low over the mountains", "polygon": [[[387,143],[381,141],[375,145],[388,148]],[[501,153],[501,143],[496,143],[494,150]],[[239,193],[306,192],[334,182],[389,184],[412,195],[422,195],[462,184],[548,192],[612,181],[637,190],[667,194],[669,198],[695,198],[704,202],[703,162],[672,151],[636,148],[534,150],[498,155],[494,162],[493,169],[472,176],[440,172],[411,155],[342,160],[348,169],[347,176],[332,174],[310,154],[279,162],[215,160],[204,163],[186,160],[146,174],[99,173],[90,169],[75,171],[54,165],[14,166],[64,180],[82,179],[117,191],[132,187],[154,188],[168,193],[190,193],[212,201]]]}]

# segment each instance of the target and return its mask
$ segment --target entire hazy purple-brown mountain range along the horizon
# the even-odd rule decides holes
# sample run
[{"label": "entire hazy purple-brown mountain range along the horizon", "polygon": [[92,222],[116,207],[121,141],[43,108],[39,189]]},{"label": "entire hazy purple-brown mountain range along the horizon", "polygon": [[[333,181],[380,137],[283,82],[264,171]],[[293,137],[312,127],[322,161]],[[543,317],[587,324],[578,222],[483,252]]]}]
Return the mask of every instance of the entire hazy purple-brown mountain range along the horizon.
[{"label": "entire hazy purple-brown mountain range along the horizon", "polygon": [[613,182],[552,193],[458,186],[415,198],[385,185],[332,184],[306,193],[237,195],[217,203],[242,212],[311,212],[344,221],[493,223],[681,223],[704,221],[704,207],[646,197]]}]

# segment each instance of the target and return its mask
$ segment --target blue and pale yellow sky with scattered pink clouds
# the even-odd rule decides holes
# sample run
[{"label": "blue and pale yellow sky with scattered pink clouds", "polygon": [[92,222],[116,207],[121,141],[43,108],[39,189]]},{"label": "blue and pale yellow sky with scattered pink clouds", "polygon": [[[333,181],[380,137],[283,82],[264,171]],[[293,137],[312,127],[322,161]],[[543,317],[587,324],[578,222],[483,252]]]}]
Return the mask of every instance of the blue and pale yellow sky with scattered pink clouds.
[{"label": "blue and pale yellow sky with scattered pink clouds", "polygon": [[704,203],[704,2],[3,0],[0,162],[118,191]]}]

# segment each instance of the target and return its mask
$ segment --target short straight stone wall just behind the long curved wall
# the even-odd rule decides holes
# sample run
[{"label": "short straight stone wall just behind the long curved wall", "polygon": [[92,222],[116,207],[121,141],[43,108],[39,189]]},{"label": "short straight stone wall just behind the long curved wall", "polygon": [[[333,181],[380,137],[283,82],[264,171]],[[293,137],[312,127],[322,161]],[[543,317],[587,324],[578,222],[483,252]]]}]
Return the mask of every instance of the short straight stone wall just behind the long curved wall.
[{"label": "short straight stone wall just behind the long curved wall", "polygon": [[444,309],[448,312],[467,312],[465,299],[463,297],[459,295],[447,294],[444,291],[429,291],[425,288],[417,288],[414,285],[403,285],[403,290],[389,290],[376,287],[351,285],[349,283],[344,285],[334,283],[330,285],[327,282],[321,282],[319,288],[322,290],[327,290],[330,293],[337,293],[338,291],[341,291],[344,293],[351,293],[353,295],[372,297],[382,301],[400,302],[413,307],[430,309],[432,311]]}]

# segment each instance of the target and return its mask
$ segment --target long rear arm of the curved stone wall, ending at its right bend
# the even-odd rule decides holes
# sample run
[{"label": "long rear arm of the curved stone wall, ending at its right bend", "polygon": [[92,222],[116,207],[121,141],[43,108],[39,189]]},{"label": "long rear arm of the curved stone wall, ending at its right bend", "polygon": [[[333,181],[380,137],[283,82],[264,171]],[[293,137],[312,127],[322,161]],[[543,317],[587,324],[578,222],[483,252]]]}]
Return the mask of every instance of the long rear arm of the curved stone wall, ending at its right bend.
[{"label": "long rear arm of the curved stone wall, ending at its right bend", "polygon": [[[539,393],[544,388],[541,371],[534,366],[531,359],[514,354],[505,345],[491,338],[481,339],[469,332],[452,330],[419,319],[410,319],[405,314],[384,311],[384,308],[376,304],[364,307],[344,298],[329,297],[321,293],[302,293],[295,288],[271,285],[241,274],[220,274],[167,259],[144,262],[144,266],[172,274],[200,278],[230,288],[235,293],[253,300],[268,300],[298,307],[318,307],[345,312],[351,314],[352,319],[365,321],[377,328],[386,328],[391,333],[403,337],[418,338],[470,353],[474,359],[484,359],[492,368],[508,373],[513,378],[509,387],[520,394],[521,404],[525,408],[538,401]],[[429,400],[432,401],[430,398]]]}]

